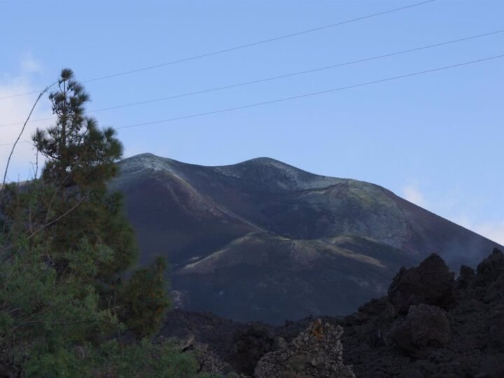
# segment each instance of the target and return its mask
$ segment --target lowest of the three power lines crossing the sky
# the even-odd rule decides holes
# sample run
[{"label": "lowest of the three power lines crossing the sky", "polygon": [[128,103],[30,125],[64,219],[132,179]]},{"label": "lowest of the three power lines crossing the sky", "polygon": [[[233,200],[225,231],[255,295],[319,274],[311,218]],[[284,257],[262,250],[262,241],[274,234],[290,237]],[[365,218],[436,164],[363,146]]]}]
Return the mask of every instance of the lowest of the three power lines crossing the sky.
[{"label": "lowest of the three power lines crossing the sky", "polygon": [[[302,99],[302,98],[305,98],[305,97],[318,96],[319,94],[327,94],[327,93],[331,93],[331,92],[338,92],[340,90],[348,90],[348,89],[356,88],[356,87],[365,87],[367,85],[373,85],[373,84],[378,84],[378,83],[385,83],[387,81],[398,80],[398,79],[401,79],[401,78],[409,78],[409,77],[412,77],[412,76],[419,76],[419,75],[423,75],[425,73],[444,71],[444,70],[447,70],[447,69],[453,69],[455,67],[468,66],[470,64],[476,64],[476,63],[480,63],[480,62],[486,62],[486,61],[493,60],[493,59],[500,59],[502,57],[504,57],[504,54],[502,54],[502,55],[495,55],[493,57],[485,57],[485,58],[482,58],[482,59],[470,60],[468,62],[451,64],[449,66],[437,67],[435,69],[426,69],[424,71],[417,71],[417,72],[412,72],[412,73],[406,73],[405,75],[392,76],[391,78],[383,78],[383,79],[379,79],[379,80],[367,81],[365,83],[346,85],[344,87],[337,87],[337,88],[333,88],[333,89],[330,89],[330,90],[321,90],[321,91],[318,91],[318,92],[298,94],[297,96],[283,97],[281,99],[274,99],[274,100],[265,101],[265,102],[255,102],[254,104],[235,106],[235,107],[232,107],[232,108],[219,109],[219,110],[216,110],[216,111],[207,111],[207,112],[204,112],[204,113],[195,113],[195,114],[190,114],[188,116],[181,116],[181,117],[174,117],[174,118],[165,118],[165,119],[162,119],[162,120],[155,120],[155,121],[145,122],[145,123],[135,123],[133,125],[116,127],[116,130],[128,129],[128,128],[131,128],[131,127],[141,127],[141,126],[155,125],[155,124],[158,124],[158,123],[169,123],[169,122],[173,122],[173,121],[176,121],[176,120],[186,120],[188,118],[210,116],[211,114],[218,114],[218,113],[227,113],[229,111],[237,111],[237,110],[240,110],[240,109],[248,109],[248,108],[253,108],[255,106],[262,106],[262,105],[267,105],[267,104],[276,104],[276,103],[279,103],[279,102],[286,102],[286,101],[290,101],[290,100],[293,100],[293,99]],[[28,142],[25,141],[25,143],[28,143]],[[12,143],[0,144],[0,146],[11,146],[11,145],[12,145]]]}]

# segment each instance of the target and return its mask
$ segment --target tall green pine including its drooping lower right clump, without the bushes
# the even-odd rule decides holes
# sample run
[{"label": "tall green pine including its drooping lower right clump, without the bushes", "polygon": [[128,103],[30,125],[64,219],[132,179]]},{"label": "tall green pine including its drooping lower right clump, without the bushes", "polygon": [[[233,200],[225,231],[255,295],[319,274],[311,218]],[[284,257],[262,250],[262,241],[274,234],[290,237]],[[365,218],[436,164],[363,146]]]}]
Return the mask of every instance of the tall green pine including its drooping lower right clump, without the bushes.
[{"label": "tall green pine including its drooping lower right clump, without the bushes", "polygon": [[127,283],[121,279],[137,260],[137,242],[122,196],[111,193],[106,183],[118,173],[123,147],[112,128],[99,130],[97,121],[85,116],[89,96],[71,70],[62,71],[58,85],[49,97],[56,125],[47,132],[37,130],[33,137],[47,158],[41,180],[54,188],[57,198],[48,200],[49,211],[52,218],[64,215],[44,231],[51,241],[50,260],[59,271],[71,268],[69,253],[84,242],[98,262],[94,284],[102,306],[117,307],[120,319],[139,337],[146,336],[157,329],[170,305],[165,263],[157,260],[133,272]]}]

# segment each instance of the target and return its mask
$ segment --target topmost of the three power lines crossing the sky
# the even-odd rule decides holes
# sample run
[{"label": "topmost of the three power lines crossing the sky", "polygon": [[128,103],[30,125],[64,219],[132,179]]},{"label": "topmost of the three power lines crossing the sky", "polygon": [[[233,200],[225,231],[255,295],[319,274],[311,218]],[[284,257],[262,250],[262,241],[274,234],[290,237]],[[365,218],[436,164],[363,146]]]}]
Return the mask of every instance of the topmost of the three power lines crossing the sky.
[{"label": "topmost of the three power lines crossing the sky", "polygon": [[[207,53],[201,54],[201,55],[194,55],[192,57],[186,57],[186,58],[183,58],[183,59],[172,60],[171,62],[165,62],[165,63],[155,64],[153,66],[145,66],[145,67],[141,67],[139,69],[132,69],[130,71],[123,71],[123,72],[119,72],[119,73],[111,73],[110,75],[99,76],[97,78],[90,78],[90,79],[87,79],[87,80],[83,80],[82,83],[90,83],[92,81],[105,80],[105,79],[109,79],[109,78],[116,78],[118,76],[130,75],[131,73],[137,73],[137,72],[141,72],[141,71],[148,71],[148,70],[151,70],[151,69],[157,69],[157,68],[164,67],[164,66],[170,66],[172,64],[179,64],[179,63],[183,63],[183,62],[188,62],[190,60],[200,59],[200,58],[203,58],[203,57],[210,57],[210,56],[213,56],[213,55],[220,55],[220,54],[224,54],[225,52],[231,52],[231,51],[235,51],[235,50],[241,50],[241,49],[244,49],[244,48],[250,48],[250,47],[256,46],[256,45],[263,45],[265,43],[270,43],[270,42],[274,42],[274,41],[280,41],[281,39],[291,38],[293,36],[300,36],[302,34],[313,33],[314,31],[319,31],[319,30],[323,30],[323,29],[329,29],[331,27],[337,27],[337,26],[340,26],[340,25],[345,25],[345,24],[349,24],[351,22],[356,22],[356,21],[360,21],[360,20],[365,20],[367,18],[377,17],[379,15],[386,15],[388,13],[397,12],[398,10],[405,10],[405,9],[408,9],[408,8],[413,8],[415,6],[421,6],[421,5],[424,5],[426,3],[433,3],[434,1],[436,1],[436,0],[421,1],[420,3],[414,3],[414,4],[410,4],[408,6],[401,6],[399,8],[393,8],[393,9],[389,9],[389,10],[384,10],[384,11],[379,12],[379,13],[372,13],[370,15],[365,15],[365,16],[361,16],[361,17],[358,17],[358,18],[351,18],[350,20],[335,22],[333,24],[324,25],[324,26],[321,26],[321,27],[314,27],[312,29],[306,29],[306,30],[302,30],[302,31],[297,31],[295,33],[284,34],[283,36],[277,36],[277,37],[273,37],[273,38],[262,39],[261,41],[256,41],[256,42],[252,42],[252,43],[246,43],[244,45],[237,45],[235,47],[226,48],[224,50],[216,50],[216,51],[212,51],[212,52],[207,52]],[[27,94],[34,94],[34,93],[38,93],[38,92],[40,92],[40,90],[34,90],[34,91],[31,91],[31,92],[25,92],[25,93],[19,93],[19,94],[12,94],[12,95],[7,96],[7,97],[0,97],[0,100],[10,99],[10,98],[13,98],[13,97],[25,96]]]}]

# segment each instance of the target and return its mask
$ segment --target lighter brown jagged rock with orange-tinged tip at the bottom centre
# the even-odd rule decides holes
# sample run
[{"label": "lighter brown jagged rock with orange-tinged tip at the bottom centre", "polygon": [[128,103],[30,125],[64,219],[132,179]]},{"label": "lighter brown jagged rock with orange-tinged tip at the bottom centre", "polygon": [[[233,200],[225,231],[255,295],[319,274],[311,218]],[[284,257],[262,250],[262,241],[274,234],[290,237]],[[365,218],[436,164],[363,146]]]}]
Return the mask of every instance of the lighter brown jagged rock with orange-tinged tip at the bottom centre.
[{"label": "lighter brown jagged rock with orange-tinged tip at the bottom centre", "polygon": [[292,342],[265,354],[255,367],[256,378],[355,378],[351,367],[343,364],[340,325],[312,323]]}]

